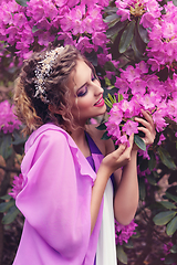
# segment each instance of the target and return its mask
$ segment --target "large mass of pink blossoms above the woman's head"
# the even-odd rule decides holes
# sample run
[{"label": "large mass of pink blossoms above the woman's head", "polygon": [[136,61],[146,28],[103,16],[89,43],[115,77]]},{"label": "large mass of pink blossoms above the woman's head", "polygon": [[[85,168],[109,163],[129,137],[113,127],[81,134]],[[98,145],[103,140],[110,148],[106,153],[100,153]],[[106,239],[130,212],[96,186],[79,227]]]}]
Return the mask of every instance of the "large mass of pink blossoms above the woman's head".
[{"label": "large mass of pink blossoms above the woman's head", "polygon": [[17,56],[28,59],[38,46],[48,46],[55,39],[81,52],[102,46],[104,57],[108,55],[107,25],[102,18],[108,0],[30,0],[27,7],[9,2],[0,3],[0,41],[14,46]]}]

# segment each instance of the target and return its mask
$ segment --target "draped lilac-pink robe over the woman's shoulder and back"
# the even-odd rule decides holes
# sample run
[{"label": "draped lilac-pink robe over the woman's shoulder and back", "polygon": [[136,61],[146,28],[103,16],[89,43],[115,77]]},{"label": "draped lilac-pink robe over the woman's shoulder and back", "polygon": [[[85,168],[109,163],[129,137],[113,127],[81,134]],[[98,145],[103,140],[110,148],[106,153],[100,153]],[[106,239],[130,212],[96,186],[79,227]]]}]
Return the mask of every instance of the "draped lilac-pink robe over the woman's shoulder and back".
[{"label": "draped lilac-pink robe over the woman's shoulder and back", "polygon": [[[71,136],[46,124],[25,144],[24,187],[17,206],[25,218],[13,265],[92,265],[103,201],[91,235],[91,194],[96,173]],[[103,155],[93,153],[96,170]]]}]

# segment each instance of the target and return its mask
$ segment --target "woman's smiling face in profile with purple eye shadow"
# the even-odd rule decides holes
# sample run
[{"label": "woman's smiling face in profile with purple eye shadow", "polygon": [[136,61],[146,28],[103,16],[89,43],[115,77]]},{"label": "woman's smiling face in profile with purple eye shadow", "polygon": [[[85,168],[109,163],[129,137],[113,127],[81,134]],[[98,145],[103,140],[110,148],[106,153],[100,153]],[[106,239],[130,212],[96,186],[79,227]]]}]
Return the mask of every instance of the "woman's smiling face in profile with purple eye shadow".
[{"label": "woman's smiling face in profile with purple eye shadow", "polygon": [[106,112],[103,99],[103,88],[94,76],[92,68],[79,60],[72,73],[72,115],[75,123],[84,125],[88,118],[96,117]]}]

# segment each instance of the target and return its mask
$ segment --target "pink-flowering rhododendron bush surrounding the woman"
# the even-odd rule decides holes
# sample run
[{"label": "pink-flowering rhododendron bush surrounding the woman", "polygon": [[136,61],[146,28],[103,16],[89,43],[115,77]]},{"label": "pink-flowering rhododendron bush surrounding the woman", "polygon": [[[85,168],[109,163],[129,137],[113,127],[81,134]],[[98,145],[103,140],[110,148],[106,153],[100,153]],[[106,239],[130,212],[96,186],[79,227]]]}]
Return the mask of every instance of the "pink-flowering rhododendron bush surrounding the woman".
[{"label": "pink-flowering rhododendron bush surrounding the woman", "polygon": [[[145,245],[136,255],[135,264],[176,264],[177,261],[176,6],[176,0],[0,2],[1,83],[13,82],[23,60],[33,51],[48,46],[49,42],[73,44],[94,64],[105,88],[107,115],[97,127],[106,130],[103,138],[111,137],[117,147],[121,142],[128,145],[129,135],[135,134],[135,142],[140,148],[137,165],[139,208],[129,225],[115,222],[117,257],[123,264],[129,264],[128,248],[134,247],[134,237],[143,239],[142,225],[147,227],[143,239]],[[142,116],[142,109],[152,115],[157,130],[155,142],[148,147],[138,132],[140,125],[134,120]],[[14,159],[14,153],[23,153],[25,139],[20,136],[21,127],[11,105],[2,102],[0,153],[7,165],[9,159]],[[9,172],[8,166],[3,169]],[[164,177],[168,183],[160,193]],[[12,198],[22,183],[19,172],[10,192]],[[0,194],[4,195],[7,189]],[[0,204],[0,211],[6,212],[4,223],[10,223],[18,214],[12,198],[3,197],[8,201]],[[148,259],[154,237],[162,244],[162,251]]]}]

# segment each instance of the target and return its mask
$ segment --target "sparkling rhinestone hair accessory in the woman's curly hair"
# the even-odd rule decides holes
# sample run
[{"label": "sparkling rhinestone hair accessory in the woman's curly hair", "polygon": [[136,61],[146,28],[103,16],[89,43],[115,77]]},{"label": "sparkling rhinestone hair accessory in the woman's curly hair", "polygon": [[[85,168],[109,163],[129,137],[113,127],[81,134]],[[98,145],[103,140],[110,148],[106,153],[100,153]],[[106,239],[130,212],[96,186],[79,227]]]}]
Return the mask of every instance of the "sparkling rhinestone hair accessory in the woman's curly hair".
[{"label": "sparkling rhinestone hair accessory in the woman's curly hair", "polygon": [[56,55],[61,54],[63,50],[64,47],[60,46],[51,50],[50,52],[46,51],[44,59],[38,63],[34,71],[37,77],[34,97],[41,98],[43,103],[49,103],[45,92],[45,82],[50,76]]}]

